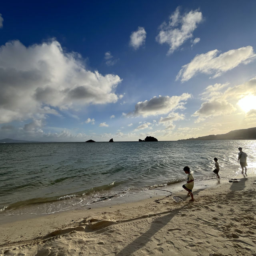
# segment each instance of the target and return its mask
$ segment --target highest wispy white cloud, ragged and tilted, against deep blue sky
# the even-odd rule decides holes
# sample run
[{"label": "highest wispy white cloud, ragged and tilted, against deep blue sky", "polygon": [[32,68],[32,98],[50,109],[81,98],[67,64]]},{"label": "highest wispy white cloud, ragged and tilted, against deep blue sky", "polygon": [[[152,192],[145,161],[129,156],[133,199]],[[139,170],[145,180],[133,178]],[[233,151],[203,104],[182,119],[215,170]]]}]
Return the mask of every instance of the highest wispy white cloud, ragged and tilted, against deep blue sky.
[{"label": "highest wispy white cloud, ragged and tilted, against deep blue sky", "polygon": [[[189,13],[181,15],[180,8],[177,7],[169,17],[169,21],[161,24],[156,41],[160,44],[168,44],[170,46],[168,54],[171,54],[186,40],[193,37],[192,33],[202,20],[203,16],[199,10],[191,10]],[[198,39],[195,40],[198,41]]]}]

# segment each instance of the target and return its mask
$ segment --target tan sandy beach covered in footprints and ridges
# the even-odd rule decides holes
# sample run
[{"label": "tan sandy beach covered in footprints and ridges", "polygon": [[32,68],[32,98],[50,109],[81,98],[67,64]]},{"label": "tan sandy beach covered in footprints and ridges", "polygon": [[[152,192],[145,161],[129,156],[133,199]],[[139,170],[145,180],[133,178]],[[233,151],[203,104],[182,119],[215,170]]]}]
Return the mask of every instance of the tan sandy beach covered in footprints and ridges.
[{"label": "tan sandy beach covered in footprints and ridges", "polygon": [[[256,177],[0,224],[0,255],[256,256]],[[16,217],[17,218],[17,217]],[[19,217],[20,218],[20,217]],[[27,219],[26,219],[27,218]]]}]

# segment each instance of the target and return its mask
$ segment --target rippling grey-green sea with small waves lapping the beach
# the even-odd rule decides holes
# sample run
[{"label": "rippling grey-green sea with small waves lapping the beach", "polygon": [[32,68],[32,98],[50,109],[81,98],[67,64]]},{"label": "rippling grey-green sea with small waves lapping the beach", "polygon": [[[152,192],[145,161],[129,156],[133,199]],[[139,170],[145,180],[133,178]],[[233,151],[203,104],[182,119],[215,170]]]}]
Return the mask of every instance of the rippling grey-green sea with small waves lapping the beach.
[{"label": "rippling grey-green sea with small waves lapping the beach", "polygon": [[[238,147],[256,175],[255,140],[51,142],[0,144],[0,215],[51,214],[100,204],[151,188],[172,188],[241,173]],[[195,182],[195,187],[196,187]]]}]

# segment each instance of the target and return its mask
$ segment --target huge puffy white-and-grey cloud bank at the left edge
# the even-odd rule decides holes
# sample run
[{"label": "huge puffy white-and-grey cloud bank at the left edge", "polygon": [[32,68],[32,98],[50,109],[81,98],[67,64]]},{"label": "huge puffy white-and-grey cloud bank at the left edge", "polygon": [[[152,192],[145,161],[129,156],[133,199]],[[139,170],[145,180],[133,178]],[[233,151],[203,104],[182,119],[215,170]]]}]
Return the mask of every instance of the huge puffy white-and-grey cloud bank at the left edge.
[{"label": "huge puffy white-and-grey cloud bank at the left edge", "polygon": [[116,102],[121,79],[86,70],[81,56],[57,41],[26,47],[16,40],[0,48],[0,81],[0,123],[6,123]]}]

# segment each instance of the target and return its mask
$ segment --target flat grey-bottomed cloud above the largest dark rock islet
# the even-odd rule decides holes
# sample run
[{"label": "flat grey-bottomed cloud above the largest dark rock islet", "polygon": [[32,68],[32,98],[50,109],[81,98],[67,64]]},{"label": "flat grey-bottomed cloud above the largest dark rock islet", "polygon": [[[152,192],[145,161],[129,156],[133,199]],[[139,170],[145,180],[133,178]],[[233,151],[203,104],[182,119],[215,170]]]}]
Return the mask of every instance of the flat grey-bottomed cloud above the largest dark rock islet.
[{"label": "flat grey-bottomed cloud above the largest dark rock islet", "polygon": [[186,104],[186,100],[191,98],[192,95],[188,93],[183,93],[180,96],[154,96],[150,100],[145,100],[143,102],[138,102],[135,105],[135,110],[128,114],[124,114],[124,116],[156,116],[159,114],[168,114],[172,110],[176,109],[184,109],[184,105]]}]

